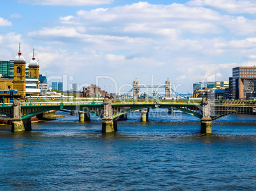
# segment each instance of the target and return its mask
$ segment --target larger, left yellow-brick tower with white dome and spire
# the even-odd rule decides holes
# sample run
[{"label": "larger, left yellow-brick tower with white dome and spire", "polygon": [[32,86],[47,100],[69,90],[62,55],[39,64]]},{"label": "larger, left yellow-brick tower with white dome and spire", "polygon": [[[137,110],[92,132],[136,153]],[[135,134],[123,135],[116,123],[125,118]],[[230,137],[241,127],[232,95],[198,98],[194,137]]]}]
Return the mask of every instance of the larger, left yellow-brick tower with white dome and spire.
[{"label": "larger, left yellow-brick tower with white dome and spire", "polygon": [[20,51],[20,43],[14,60],[13,89],[17,89],[21,98],[25,98],[25,58]]}]

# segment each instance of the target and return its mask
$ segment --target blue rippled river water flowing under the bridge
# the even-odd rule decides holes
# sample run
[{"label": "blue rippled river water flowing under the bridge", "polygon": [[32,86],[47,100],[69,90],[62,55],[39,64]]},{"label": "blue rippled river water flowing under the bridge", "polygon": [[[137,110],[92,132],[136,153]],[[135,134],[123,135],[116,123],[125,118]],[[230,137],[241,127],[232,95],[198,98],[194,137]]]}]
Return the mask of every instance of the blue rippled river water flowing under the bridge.
[{"label": "blue rippled river water flowing under the bridge", "polygon": [[[153,113],[157,112],[157,114]],[[0,126],[0,190],[256,190],[256,115],[228,115],[200,133],[180,112],[138,113],[101,133],[101,119]]]}]

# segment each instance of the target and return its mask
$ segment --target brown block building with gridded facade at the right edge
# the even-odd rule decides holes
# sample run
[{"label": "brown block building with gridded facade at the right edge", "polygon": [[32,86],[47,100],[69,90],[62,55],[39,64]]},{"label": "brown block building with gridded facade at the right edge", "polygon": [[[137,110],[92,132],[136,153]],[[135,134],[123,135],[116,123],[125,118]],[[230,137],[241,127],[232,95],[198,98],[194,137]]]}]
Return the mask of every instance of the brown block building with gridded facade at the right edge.
[{"label": "brown block building with gridded facade at the right edge", "polygon": [[256,91],[256,67],[236,67],[232,70],[232,98],[245,99],[246,93]]}]

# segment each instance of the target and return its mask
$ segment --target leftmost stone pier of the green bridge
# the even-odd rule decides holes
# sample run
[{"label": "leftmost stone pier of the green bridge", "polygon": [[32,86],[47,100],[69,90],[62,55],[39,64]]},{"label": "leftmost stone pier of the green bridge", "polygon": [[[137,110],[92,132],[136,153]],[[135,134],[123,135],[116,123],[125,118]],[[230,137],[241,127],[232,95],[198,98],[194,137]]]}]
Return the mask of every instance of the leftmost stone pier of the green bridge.
[{"label": "leftmost stone pier of the green bridge", "polygon": [[13,100],[13,119],[11,122],[11,131],[25,131],[25,127],[22,121],[20,100]]}]

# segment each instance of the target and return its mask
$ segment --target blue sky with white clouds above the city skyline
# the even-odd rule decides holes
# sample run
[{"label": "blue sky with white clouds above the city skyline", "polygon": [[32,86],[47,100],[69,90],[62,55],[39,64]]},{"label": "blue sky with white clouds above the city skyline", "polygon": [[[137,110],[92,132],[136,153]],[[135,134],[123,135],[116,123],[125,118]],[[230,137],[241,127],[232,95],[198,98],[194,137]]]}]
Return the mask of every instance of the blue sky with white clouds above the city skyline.
[{"label": "blue sky with white clouds above the city skyline", "polygon": [[228,81],[256,64],[256,1],[8,0],[1,2],[0,59],[22,43],[52,81],[118,85],[128,91],[169,77],[179,93],[192,83]]}]

